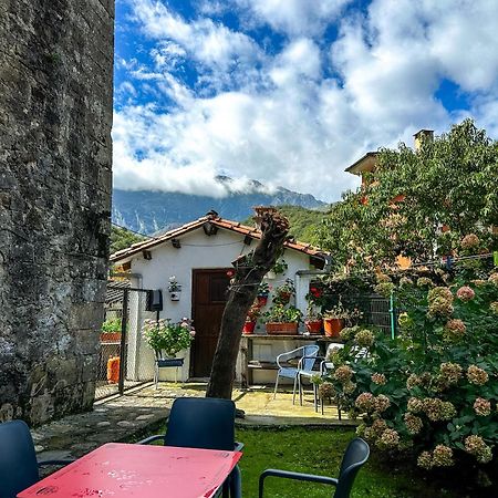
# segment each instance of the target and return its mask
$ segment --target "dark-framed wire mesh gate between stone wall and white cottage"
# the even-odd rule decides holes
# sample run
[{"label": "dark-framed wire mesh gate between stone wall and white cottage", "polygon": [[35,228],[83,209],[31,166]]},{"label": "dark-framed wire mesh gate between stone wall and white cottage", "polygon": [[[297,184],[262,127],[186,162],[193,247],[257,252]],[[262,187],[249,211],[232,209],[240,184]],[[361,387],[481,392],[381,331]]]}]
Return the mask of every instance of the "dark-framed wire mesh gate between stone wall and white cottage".
[{"label": "dark-framed wire mesh gate between stone wall and white cottage", "polygon": [[142,339],[142,323],[155,318],[145,310],[147,291],[134,289],[129,281],[107,283],[104,323],[95,383],[95,400],[152,381],[149,355]]}]

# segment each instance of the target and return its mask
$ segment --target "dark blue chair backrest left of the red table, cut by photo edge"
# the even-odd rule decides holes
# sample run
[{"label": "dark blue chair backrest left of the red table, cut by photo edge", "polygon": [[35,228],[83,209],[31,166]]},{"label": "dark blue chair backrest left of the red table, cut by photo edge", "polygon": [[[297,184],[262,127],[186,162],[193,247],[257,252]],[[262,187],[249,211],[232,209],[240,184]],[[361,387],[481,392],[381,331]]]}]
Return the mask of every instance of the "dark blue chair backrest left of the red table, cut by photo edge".
[{"label": "dark blue chair backrest left of the red table, cut by photo edge", "polygon": [[28,425],[22,421],[0,424],[0,498],[15,498],[39,478]]}]

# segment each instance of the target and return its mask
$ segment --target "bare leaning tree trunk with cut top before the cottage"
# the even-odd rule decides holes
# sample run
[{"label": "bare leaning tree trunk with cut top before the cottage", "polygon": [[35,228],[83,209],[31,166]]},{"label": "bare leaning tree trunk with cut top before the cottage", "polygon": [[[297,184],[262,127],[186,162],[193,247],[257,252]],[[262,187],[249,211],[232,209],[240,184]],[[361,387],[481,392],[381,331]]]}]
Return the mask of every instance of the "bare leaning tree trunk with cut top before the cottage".
[{"label": "bare leaning tree trunk with cut top before the cottage", "polygon": [[273,267],[282,251],[289,231],[289,221],[277,211],[267,211],[262,215],[261,231],[261,240],[255,251],[232,263],[236,274],[221,319],[221,330],[206,392],[207,397],[231,398],[246,315],[256,299],[262,278]]}]

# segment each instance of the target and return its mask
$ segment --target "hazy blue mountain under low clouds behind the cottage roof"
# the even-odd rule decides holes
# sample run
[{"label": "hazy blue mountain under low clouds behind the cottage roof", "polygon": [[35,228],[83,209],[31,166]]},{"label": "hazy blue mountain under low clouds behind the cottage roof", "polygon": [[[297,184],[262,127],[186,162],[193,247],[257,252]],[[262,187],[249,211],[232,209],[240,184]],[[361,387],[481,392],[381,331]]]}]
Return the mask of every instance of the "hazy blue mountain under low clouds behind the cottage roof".
[{"label": "hazy blue mountain under low clouds behind the cottage roof", "polygon": [[283,187],[269,191],[252,181],[247,194],[230,190],[231,178],[218,177],[229,195],[222,198],[151,190],[113,190],[113,222],[141,234],[152,235],[200,218],[214,209],[221,217],[241,221],[251,216],[253,206],[302,206],[318,209],[326,206],[310,194]]}]

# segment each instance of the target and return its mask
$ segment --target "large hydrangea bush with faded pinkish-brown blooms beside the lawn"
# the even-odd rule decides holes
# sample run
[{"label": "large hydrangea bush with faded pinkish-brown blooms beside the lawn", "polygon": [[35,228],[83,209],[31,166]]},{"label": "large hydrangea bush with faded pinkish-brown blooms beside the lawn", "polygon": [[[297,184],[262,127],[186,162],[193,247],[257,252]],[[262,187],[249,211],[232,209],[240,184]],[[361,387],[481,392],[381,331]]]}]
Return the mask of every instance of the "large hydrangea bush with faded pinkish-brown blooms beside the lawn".
[{"label": "large hydrangea bush with faded pinkish-brown blooms beside the lawn", "polygon": [[381,450],[425,469],[469,458],[486,469],[498,455],[498,272],[404,277],[395,293],[400,335],[344,329],[319,393],[360,418],[359,435]]}]

